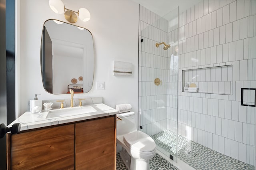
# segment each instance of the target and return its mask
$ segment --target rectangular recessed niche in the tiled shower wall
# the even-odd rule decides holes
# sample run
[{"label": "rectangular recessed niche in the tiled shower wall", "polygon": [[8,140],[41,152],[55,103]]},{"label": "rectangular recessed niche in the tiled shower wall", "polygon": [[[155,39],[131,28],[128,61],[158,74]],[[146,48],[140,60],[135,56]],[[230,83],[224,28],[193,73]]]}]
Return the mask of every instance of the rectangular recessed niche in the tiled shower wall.
[{"label": "rectangular recessed niche in the tiled shower wall", "polygon": [[197,93],[232,95],[232,65],[182,70],[182,92],[191,83]]}]

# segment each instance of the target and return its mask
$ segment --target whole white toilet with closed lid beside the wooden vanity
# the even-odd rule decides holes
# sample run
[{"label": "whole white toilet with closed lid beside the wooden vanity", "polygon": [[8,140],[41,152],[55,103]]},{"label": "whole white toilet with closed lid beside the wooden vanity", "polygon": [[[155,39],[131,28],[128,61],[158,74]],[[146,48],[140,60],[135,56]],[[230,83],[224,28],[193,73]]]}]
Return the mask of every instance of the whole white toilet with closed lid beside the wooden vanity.
[{"label": "whole white toilet with closed lid beside the wooden vanity", "polygon": [[138,131],[134,112],[116,115],[116,140],[122,146],[120,156],[129,170],[149,170],[149,160],[156,154],[156,143],[148,134]]}]

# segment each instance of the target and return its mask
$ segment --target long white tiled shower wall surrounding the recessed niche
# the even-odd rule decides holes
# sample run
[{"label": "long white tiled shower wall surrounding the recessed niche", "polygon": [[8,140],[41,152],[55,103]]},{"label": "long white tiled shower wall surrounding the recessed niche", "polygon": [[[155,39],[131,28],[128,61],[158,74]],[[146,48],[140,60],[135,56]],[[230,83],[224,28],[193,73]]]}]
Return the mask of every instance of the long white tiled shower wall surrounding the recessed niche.
[{"label": "long white tiled shower wall surrounding the recessed niche", "polygon": [[[256,109],[240,98],[256,88],[256,1],[201,1],[180,14],[178,37],[178,134],[254,165]],[[222,65],[232,65],[232,95],[182,92],[182,70]]]}]

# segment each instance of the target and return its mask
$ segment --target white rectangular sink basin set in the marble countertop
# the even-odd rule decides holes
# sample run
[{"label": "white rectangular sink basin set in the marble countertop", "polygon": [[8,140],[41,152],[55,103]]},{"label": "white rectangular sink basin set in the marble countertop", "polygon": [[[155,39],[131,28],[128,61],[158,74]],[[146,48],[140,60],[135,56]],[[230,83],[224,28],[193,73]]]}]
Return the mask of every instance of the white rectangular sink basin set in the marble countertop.
[{"label": "white rectangular sink basin set in the marble countertop", "polygon": [[97,112],[97,110],[94,109],[92,106],[64,108],[64,109],[48,111],[48,115],[46,116],[46,119],[75,116],[75,115],[81,115],[81,114],[93,113],[93,112]]}]

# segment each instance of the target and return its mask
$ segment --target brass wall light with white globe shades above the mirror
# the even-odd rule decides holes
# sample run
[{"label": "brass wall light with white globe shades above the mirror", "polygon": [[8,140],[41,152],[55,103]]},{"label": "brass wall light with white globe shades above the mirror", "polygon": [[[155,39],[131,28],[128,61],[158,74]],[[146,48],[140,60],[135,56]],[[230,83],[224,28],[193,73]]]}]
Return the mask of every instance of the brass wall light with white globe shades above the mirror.
[{"label": "brass wall light with white globe shades above the mirror", "polygon": [[64,16],[70,23],[75,23],[77,21],[77,16],[75,13],[77,13],[78,17],[83,22],[89,21],[91,18],[90,12],[86,8],[80,8],[78,12],[75,12],[65,8],[61,0],[49,0],[49,6],[57,14],[63,14],[65,12]]}]

